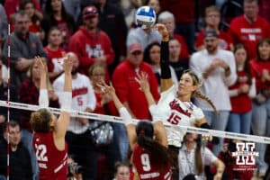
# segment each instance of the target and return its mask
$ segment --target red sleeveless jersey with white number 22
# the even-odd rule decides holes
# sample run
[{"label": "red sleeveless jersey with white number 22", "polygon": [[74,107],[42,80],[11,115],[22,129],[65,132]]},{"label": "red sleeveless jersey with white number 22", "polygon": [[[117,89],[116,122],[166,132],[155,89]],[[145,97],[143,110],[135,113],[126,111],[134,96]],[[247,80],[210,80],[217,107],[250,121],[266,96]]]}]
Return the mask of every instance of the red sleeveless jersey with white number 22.
[{"label": "red sleeveless jersey with white number 22", "polygon": [[40,180],[67,179],[67,143],[59,151],[53,140],[52,132],[33,134],[32,145],[40,167]]}]

